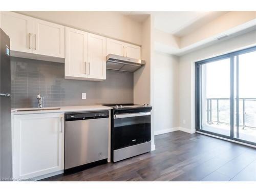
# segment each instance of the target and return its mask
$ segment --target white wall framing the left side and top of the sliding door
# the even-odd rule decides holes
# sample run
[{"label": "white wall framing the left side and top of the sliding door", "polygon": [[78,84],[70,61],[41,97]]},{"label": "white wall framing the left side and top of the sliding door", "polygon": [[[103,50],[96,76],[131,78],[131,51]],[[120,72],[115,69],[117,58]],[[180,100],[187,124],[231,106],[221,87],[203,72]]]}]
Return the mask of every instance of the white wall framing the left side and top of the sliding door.
[{"label": "white wall framing the left side and top of the sliding door", "polygon": [[195,131],[195,61],[256,45],[256,30],[204,49],[183,55],[179,60],[179,124]]}]

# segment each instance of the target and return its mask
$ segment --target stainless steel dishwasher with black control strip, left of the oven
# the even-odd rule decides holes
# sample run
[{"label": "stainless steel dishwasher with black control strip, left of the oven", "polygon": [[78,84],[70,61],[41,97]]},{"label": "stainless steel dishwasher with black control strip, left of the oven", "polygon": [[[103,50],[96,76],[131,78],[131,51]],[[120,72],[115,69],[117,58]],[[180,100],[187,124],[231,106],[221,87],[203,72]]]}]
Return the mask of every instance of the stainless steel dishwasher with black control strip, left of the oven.
[{"label": "stainless steel dishwasher with black control strip, left of the oven", "polygon": [[65,113],[65,169],[108,158],[109,111]]}]

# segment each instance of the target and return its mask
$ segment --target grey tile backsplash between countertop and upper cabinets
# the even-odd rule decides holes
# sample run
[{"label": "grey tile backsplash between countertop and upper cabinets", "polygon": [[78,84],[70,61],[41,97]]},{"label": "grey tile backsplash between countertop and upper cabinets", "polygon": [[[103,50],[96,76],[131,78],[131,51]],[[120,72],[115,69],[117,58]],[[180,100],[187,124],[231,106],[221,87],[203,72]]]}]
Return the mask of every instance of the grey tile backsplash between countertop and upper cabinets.
[{"label": "grey tile backsplash between countertop and upper cabinets", "polygon": [[63,63],[11,57],[11,89],[12,108],[37,107],[38,93],[44,106],[133,103],[133,73],[106,70],[104,81],[70,80]]}]

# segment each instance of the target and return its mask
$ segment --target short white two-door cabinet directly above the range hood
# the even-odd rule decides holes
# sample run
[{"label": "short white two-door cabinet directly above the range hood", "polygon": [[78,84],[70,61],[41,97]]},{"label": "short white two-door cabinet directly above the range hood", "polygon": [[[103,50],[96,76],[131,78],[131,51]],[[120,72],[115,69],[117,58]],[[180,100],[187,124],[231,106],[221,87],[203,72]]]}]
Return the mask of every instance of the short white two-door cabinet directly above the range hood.
[{"label": "short white two-door cabinet directly above the range hood", "polygon": [[111,38],[106,39],[106,55],[114,54],[124,57],[141,59],[140,52],[140,46],[127,44],[126,42],[114,40]]}]

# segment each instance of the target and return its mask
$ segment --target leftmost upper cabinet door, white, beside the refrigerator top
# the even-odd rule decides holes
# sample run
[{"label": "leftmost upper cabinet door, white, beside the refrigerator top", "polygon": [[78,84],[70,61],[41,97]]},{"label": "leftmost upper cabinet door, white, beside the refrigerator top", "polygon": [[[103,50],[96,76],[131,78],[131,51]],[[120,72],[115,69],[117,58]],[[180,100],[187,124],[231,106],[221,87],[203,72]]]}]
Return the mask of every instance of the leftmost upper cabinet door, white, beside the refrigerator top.
[{"label": "leftmost upper cabinet door, white, beside the refrigerator top", "polygon": [[1,28],[10,37],[12,51],[33,52],[33,18],[14,12],[1,12]]}]

